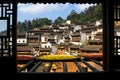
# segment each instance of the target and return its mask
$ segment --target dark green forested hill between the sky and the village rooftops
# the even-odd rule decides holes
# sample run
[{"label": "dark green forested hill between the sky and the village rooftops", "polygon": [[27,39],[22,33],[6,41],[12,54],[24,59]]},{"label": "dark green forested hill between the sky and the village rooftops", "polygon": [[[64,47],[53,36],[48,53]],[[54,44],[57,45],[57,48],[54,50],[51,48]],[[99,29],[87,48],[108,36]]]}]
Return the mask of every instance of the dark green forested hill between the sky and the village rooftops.
[{"label": "dark green forested hill between the sky and the village rooftops", "polygon": [[89,24],[100,20],[102,18],[102,5],[90,6],[85,9],[83,12],[77,13],[75,10],[72,10],[71,13],[63,19],[59,16],[54,21],[48,18],[36,18],[33,20],[25,20],[24,22],[18,22],[18,33],[26,32],[27,30],[32,30],[34,28],[39,28],[47,25],[56,26],[63,23],[66,20],[71,20],[72,24]]}]

